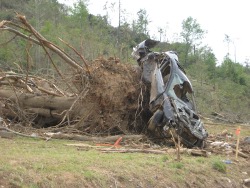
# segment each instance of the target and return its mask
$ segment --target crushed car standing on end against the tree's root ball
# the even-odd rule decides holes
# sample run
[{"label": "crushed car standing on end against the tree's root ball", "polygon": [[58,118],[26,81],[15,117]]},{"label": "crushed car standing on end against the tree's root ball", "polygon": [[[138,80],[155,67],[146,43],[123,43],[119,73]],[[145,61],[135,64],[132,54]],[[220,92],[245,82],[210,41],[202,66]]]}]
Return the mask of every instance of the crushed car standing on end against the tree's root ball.
[{"label": "crushed car standing on end against the tree's root ball", "polygon": [[142,80],[149,88],[152,116],[148,132],[179,137],[187,147],[204,147],[208,133],[197,114],[191,82],[175,52],[150,50],[158,43],[147,39],[132,52],[142,68]]}]

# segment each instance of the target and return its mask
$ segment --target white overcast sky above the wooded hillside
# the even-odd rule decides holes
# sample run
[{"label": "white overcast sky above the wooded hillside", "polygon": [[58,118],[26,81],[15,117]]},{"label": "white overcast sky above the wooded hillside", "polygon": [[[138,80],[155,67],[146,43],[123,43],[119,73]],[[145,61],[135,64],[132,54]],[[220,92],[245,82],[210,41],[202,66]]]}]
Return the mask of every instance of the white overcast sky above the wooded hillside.
[{"label": "white overcast sky above the wooded hillside", "polygon": [[[73,4],[77,0],[59,0],[65,4]],[[88,10],[91,14],[105,15],[105,3],[115,2],[113,10],[109,9],[111,24],[118,25],[119,0],[89,0]],[[203,30],[207,31],[205,44],[213,49],[218,62],[228,52],[224,42],[225,34],[234,42],[229,46],[232,60],[244,62],[250,59],[250,1],[249,0],[120,0],[121,9],[126,10],[126,19],[129,23],[137,19],[137,12],[145,9],[148,14],[149,33],[159,39],[159,27],[166,29],[166,38],[175,40],[174,33],[181,32],[181,23],[191,16],[196,19]],[[164,38],[162,38],[164,39]],[[235,53],[236,52],[236,53]]]}]

